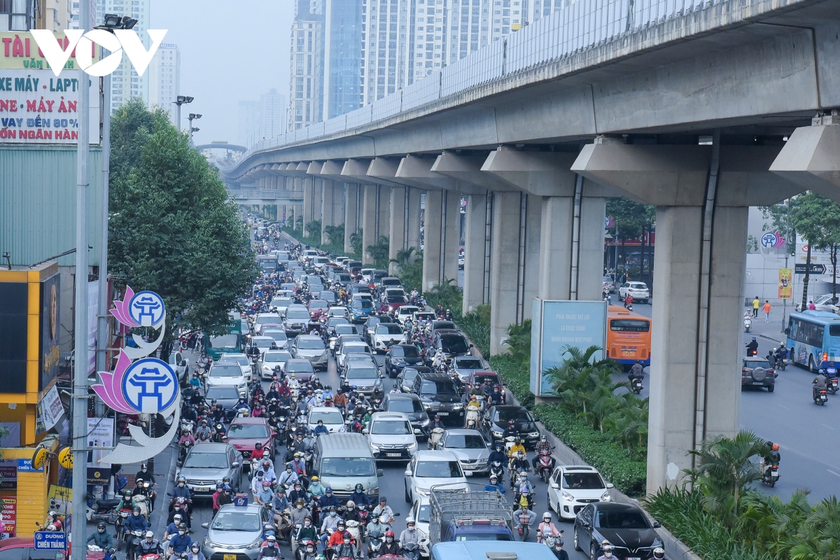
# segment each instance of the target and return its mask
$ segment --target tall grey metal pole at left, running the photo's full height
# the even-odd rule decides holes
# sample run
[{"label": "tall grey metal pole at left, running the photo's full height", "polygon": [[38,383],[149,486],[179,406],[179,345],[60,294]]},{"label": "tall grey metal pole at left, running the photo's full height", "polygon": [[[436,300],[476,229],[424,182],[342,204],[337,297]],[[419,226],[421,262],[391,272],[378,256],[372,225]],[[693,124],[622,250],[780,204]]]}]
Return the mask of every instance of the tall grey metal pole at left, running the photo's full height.
[{"label": "tall grey metal pole at left, running the photo's full height", "polygon": [[[90,29],[89,2],[79,3],[79,28]],[[72,403],[73,508],[76,523],[72,525],[71,554],[74,558],[87,556],[85,544],[85,492],[87,488],[87,191],[90,180],[87,164],[90,151],[90,98],[87,74],[79,70],[77,124],[79,141],[76,149],[76,318],[73,323],[74,368]]]}]

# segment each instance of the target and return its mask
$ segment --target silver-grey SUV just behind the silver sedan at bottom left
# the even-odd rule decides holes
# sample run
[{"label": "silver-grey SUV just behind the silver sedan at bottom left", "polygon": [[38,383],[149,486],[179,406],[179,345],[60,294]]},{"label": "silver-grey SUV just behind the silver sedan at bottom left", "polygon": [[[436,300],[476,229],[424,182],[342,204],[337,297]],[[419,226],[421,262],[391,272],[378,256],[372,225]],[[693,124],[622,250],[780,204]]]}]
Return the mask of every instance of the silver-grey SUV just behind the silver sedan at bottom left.
[{"label": "silver-grey SUV just behind the silver sedan at bottom left", "polygon": [[197,443],[186,454],[184,466],[177,473],[186,479],[193,496],[211,496],[216,484],[229,476],[234,490],[239,491],[242,478],[242,453],[229,443]]}]

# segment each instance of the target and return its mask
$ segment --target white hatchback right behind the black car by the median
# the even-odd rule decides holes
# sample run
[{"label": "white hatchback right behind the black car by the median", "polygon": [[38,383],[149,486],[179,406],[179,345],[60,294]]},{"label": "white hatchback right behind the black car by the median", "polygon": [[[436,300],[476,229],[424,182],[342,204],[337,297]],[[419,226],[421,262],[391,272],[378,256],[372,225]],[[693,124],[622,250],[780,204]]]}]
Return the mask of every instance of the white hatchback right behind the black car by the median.
[{"label": "white hatchback right behind the black car by the median", "polygon": [[562,519],[574,520],[587,504],[610,501],[611,488],[594,467],[560,465],[549,479],[549,510]]}]

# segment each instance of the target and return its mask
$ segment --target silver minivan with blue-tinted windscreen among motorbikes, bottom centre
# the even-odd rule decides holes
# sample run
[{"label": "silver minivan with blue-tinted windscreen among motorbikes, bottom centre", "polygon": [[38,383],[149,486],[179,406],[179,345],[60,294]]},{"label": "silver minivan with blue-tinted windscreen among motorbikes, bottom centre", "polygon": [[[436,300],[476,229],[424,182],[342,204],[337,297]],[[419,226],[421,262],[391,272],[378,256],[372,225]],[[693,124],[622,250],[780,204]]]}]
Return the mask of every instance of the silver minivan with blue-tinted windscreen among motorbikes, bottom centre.
[{"label": "silver minivan with blue-tinted windscreen among motorbikes, bottom centre", "polygon": [[312,452],[312,473],[324,487],[333,489],[342,503],[349,500],[356,484],[365,488],[370,501],[379,502],[379,480],[370,442],[360,433],[330,433],[318,437]]}]

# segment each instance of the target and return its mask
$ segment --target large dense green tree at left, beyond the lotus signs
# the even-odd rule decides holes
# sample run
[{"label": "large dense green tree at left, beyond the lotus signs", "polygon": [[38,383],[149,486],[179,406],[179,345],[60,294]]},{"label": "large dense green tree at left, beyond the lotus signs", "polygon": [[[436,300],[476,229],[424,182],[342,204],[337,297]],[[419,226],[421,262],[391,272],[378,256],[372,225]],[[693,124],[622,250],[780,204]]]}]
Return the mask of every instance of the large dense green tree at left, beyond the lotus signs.
[{"label": "large dense green tree at left, beyond the lotus signs", "polygon": [[257,268],[218,172],[160,109],[129,102],[111,127],[113,274],[163,297],[169,340],[176,327],[223,332]]}]

